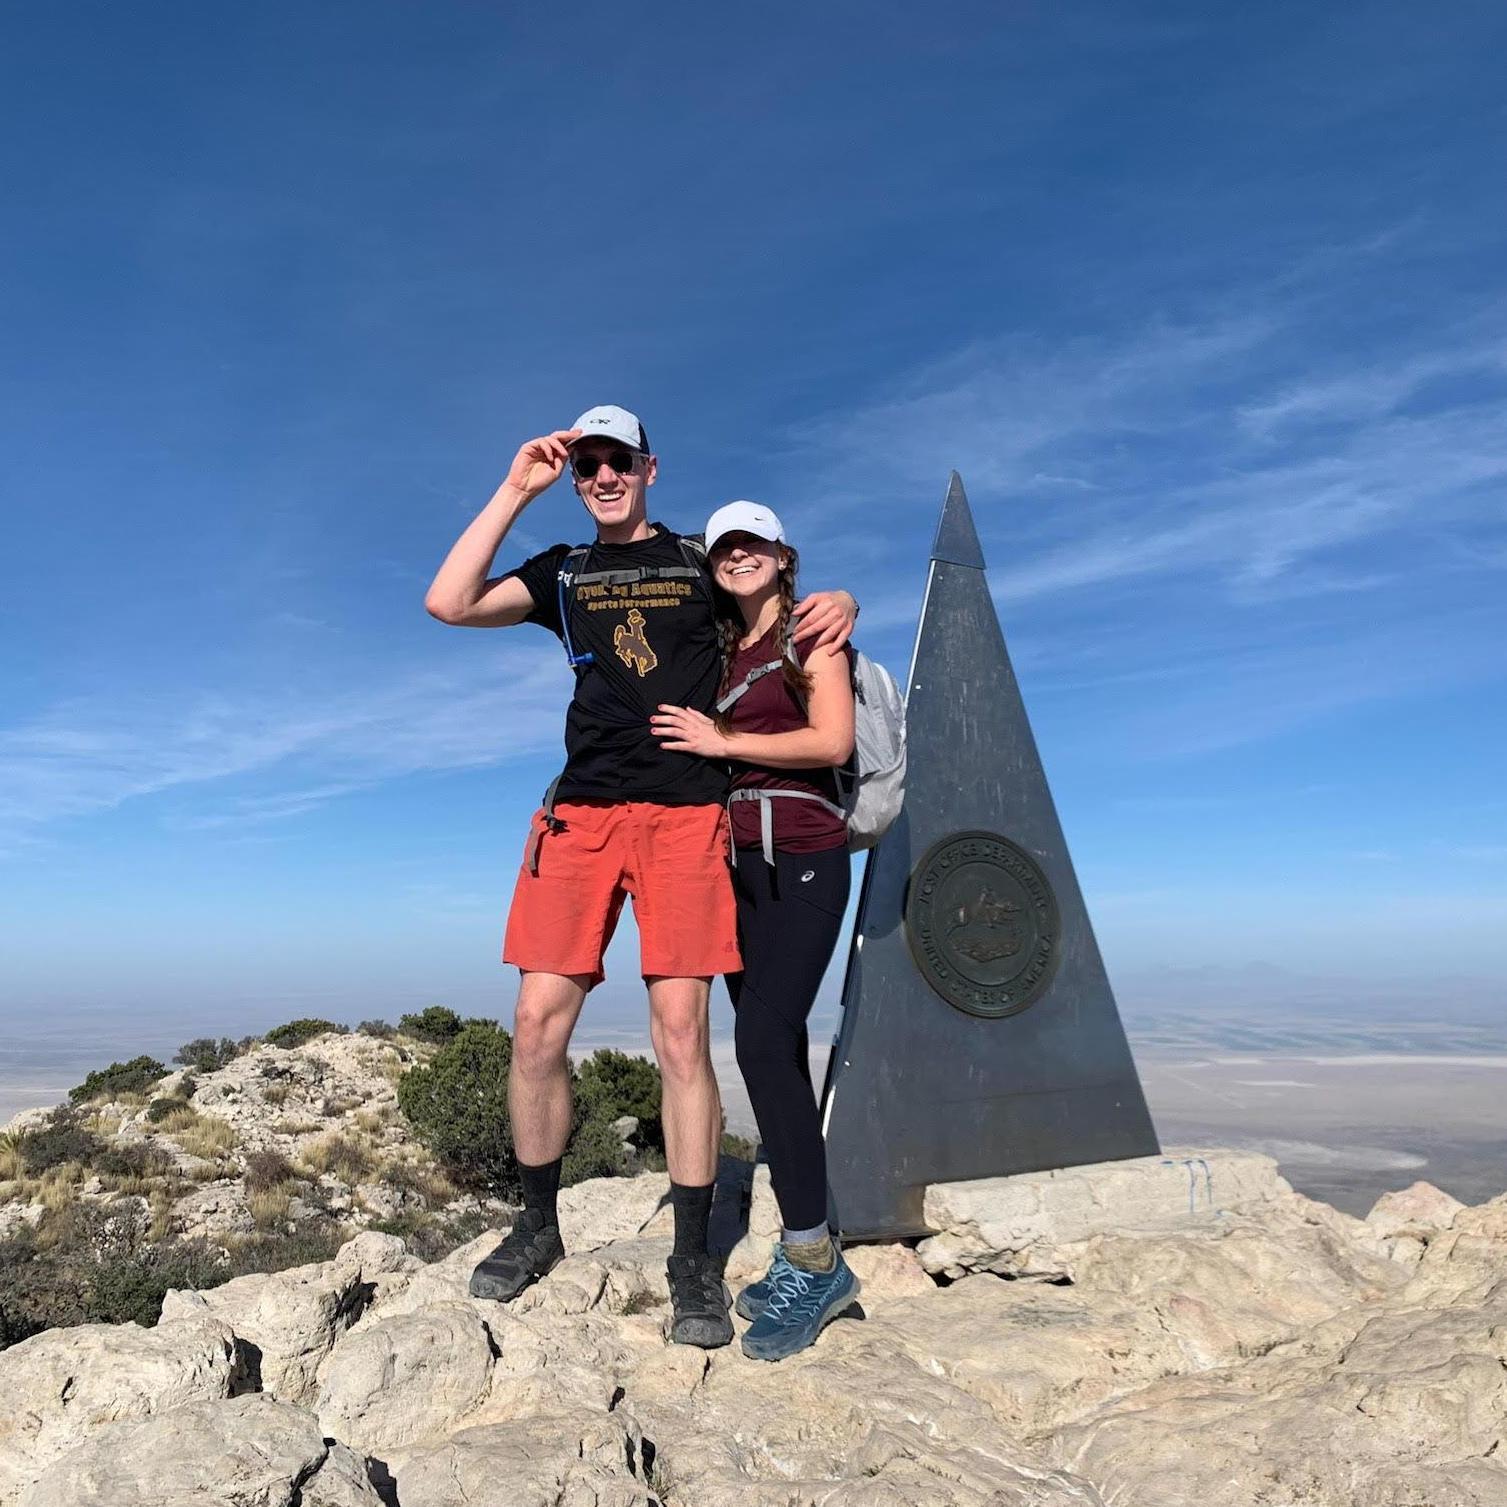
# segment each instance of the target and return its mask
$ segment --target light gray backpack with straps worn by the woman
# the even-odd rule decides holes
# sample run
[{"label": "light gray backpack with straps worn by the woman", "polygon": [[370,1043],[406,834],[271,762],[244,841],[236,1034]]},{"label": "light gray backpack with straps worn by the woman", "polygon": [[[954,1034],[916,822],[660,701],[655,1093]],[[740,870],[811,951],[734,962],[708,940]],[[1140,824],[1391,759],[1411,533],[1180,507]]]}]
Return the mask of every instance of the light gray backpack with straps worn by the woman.
[{"label": "light gray backpack with straps worn by the woman", "polygon": [[[794,648],[787,643],[785,656],[799,665]],[[757,665],[719,702],[726,711],[749,687],[784,666],[784,660]],[[814,800],[826,806],[847,824],[848,851],[862,853],[874,847],[895,824],[906,800],[906,702],[895,677],[876,665],[867,654],[853,651],[853,757],[833,776],[838,800],[824,800],[805,790],[734,790],[734,800],[760,803],[760,836],[764,860],[775,862],[775,820],[770,800]]]}]

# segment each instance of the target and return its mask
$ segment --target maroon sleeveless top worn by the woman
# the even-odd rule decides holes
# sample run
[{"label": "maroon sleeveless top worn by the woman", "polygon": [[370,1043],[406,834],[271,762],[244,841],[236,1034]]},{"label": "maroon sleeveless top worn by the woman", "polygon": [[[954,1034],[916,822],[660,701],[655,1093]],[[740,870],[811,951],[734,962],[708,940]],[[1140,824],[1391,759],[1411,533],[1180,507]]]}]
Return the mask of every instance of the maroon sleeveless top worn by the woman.
[{"label": "maroon sleeveless top worn by the woman", "polygon": [[[743,677],[760,665],[779,659],[781,647],[776,637],[778,625],[770,628],[757,643],[738,650],[732,657],[729,686],[741,686]],[[796,645],[796,657],[806,663],[808,647]],[[853,651],[842,653],[853,663]],[[805,708],[796,693],[785,684],[785,677],[775,671],[761,675],[728,710],[734,732],[794,732],[808,726]],[[836,802],[836,776],[829,769],[770,769],[766,764],[734,764],[734,790],[802,790],[823,800]],[[732,814],[732,841],[738,847],[760,845],[758,800],[734,800],[728,808]],[[826,848],[847,844],[847,823],[826,806],[814,800],[772,800],[769,803],[775,826],[775,847],[785,853],[821,853]]]}]

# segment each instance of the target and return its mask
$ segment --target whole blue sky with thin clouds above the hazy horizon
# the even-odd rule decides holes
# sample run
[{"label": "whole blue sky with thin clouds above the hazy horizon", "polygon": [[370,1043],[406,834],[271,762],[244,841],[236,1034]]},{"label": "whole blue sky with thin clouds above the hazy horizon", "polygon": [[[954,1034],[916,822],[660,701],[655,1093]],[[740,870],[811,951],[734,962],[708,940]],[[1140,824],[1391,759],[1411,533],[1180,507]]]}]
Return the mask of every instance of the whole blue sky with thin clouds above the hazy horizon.
[{"label": "whole blue sky with thin clouds above the hazy horizon", "polygon": [[600,401],[897,669],[963,473],[1139,998],[1507,977],[1499,6],[6,30],[0,1025],[509,1007],[568,675],[420,603]]}]

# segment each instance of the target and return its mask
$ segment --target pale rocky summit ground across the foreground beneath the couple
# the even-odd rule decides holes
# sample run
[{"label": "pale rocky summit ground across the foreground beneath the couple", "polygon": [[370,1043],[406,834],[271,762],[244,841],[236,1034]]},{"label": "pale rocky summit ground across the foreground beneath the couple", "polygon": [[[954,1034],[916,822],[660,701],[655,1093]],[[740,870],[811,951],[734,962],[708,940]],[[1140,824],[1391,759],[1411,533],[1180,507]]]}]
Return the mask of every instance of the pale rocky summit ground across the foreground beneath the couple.
[{"label": "pale rocky summit ground across the foreground beneath the couple", "polygon": [[[1507,1197],[1353,1219],[1177,1151],[933,1188],[862,1307],[770,1365],[665,1341],[662,1174],[562,1195],[570,1255],[467,1296],[491,1230],[173,1291],[0,1353],[0,1507],[1501,1507]],[[766,1174],[725,1163],[728,1279]],[[741,1325],[741,1320],[740,1320]]]}]

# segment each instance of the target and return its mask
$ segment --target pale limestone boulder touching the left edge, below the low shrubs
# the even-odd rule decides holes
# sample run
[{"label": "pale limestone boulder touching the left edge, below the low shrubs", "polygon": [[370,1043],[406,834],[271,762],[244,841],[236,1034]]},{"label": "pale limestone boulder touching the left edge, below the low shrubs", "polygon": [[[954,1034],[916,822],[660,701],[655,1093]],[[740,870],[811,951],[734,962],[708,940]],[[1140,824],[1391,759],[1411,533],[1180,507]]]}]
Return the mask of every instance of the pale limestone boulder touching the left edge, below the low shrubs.
[{"label": "pale limestone boulder touching the left edge, below the low shrubs", "polygon": [[155,1329],[48,1329],[0,1350],[0,1507],[102,1426],[244,1385],[235,1337],[206,1313]]}]

